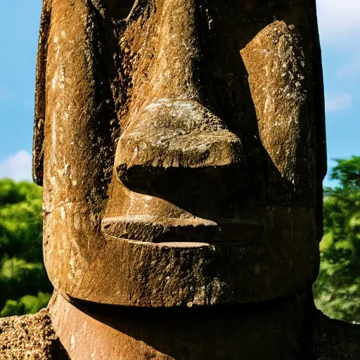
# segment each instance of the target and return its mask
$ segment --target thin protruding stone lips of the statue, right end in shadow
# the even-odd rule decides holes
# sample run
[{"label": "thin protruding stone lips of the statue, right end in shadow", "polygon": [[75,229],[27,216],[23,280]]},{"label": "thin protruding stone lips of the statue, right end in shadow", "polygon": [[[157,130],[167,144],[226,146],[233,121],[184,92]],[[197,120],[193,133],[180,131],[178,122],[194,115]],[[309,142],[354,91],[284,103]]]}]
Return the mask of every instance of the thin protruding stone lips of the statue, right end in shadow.
[{"label": "thin protruding stone lips of the statue, right end in shadow", "polygon": [[245,244],[261,233],[262,224],[253,220],[211,221],[196,217],[179,219],[132,215],[104,218],[101,228],[113,238],[182,248],[221,243]]}]

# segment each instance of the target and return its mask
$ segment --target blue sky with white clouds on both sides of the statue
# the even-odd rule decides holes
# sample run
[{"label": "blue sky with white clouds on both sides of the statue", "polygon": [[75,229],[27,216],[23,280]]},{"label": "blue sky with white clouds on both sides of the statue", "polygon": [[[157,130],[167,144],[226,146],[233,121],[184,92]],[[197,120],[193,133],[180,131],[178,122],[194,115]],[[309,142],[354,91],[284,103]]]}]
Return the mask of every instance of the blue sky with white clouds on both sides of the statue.
[{"label": "blue sky with white clouds on both sides of the statue", "polygon": [[[360,155],[360,1],[317,0],[328,165]],[[0,177],[31,179],[34,72],[41,0],[0,1]],[[324,182],[332,185],[328,177]]]}]

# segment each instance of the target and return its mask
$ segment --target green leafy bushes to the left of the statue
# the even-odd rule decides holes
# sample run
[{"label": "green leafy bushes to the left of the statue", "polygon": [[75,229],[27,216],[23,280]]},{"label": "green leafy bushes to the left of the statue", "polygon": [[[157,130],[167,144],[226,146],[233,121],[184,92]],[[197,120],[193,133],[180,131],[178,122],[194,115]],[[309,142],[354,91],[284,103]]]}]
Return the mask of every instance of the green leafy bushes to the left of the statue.
[{"label": "green leafy bushes to the left of the statue", "polygon": [[41,193],[32,183],[0,180],[0,316],[34,313],[49,301]]}]

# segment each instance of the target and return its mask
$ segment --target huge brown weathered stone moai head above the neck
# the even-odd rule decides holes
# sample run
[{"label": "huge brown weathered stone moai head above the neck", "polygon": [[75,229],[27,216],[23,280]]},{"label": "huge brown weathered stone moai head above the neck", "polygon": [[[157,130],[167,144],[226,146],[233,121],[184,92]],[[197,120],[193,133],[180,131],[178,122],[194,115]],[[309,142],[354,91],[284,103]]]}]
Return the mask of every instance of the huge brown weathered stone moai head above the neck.
[{"label": "huge brown weathered stone moai head above the neck", "polygon": [[322,94],[315,0],[44,0],[33,171],[53,285],[141,307],[311,286]]}]

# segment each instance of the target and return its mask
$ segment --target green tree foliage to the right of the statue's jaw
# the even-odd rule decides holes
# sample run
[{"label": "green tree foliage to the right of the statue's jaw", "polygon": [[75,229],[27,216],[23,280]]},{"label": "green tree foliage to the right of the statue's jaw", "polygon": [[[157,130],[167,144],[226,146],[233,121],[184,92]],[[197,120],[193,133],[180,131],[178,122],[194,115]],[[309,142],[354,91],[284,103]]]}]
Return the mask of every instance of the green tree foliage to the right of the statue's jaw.
[{"label": "green tree foliage to the right of the statue's jaw", "polygon": [[336,160],[324,189],[321,266],[314,285],[316,306],[328,316],[360,323],[360,156]]}]

